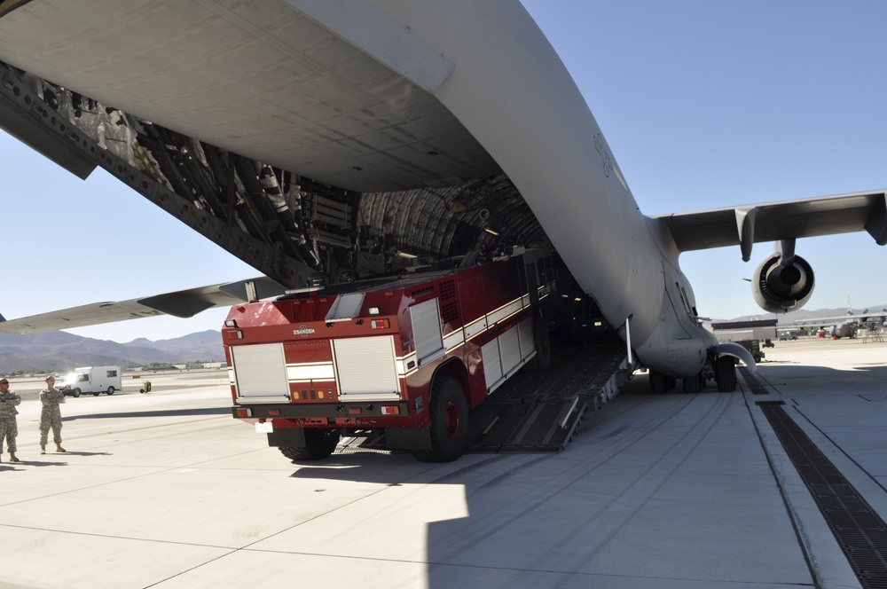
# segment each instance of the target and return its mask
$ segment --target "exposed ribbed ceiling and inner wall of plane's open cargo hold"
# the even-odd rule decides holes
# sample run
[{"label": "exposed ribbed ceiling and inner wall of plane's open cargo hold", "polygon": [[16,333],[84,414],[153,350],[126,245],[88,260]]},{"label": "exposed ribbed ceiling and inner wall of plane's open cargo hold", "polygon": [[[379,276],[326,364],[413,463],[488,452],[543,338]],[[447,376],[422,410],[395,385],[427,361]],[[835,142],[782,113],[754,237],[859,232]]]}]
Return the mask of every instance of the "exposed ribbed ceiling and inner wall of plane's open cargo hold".
[{"label": "exposed ribbed ceiling and inner wall of plane's open cargo hold", "polygon": [[48,157],[94,162],[288,287],[404,270],[475,248],[548,245],[501,173],[434,188],[357,192],[145,121],[2,62],[0,78],[0,126],[39,126],[52,144]]}]

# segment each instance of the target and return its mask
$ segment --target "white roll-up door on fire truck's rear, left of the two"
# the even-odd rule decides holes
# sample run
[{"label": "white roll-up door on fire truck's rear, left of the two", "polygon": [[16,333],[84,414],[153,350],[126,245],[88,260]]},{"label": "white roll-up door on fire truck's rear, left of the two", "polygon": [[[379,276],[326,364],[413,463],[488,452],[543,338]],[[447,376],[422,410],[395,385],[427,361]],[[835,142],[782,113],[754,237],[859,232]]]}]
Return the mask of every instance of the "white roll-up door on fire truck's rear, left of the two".
[{"label": "white roll-up door on fire truck's rear, left of the two", "polygon": [[287,361],[282,343],[232,346],[233,380],[240,403],[288,403]]}]

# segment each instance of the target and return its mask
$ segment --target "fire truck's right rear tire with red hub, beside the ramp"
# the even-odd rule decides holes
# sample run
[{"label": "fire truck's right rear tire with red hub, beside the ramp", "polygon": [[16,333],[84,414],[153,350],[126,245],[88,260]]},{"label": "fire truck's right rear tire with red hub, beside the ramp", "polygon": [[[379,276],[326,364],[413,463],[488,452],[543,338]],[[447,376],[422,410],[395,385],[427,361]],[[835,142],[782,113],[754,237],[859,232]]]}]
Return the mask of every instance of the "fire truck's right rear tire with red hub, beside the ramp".
[{"label": "fire truck's right rear tire with red hub, beside the ramp", "polygon": [[431,448],[412,451],[422,462],[451,462],[468,445],[468,403],[458,381],[436,377],[431,387]]}]

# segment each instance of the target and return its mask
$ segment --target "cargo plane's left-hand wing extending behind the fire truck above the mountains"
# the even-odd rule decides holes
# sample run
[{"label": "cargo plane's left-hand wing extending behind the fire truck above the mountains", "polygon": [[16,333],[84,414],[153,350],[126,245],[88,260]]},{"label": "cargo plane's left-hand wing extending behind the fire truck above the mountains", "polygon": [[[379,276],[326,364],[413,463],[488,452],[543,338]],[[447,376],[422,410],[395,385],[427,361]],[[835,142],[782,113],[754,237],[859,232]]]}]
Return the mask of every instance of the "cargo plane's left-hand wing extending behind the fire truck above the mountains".
[{"label": "cargo plane's left-hand wing extending behind the fire truck above the mountains", "polygon": [[[247,285],[255,286],[255,297],[247,294]],[[0,332],[7,334],[39,334],[58,329],[94,326],[114,321],[125,321],[158,315],[179,318],[193,317],[213,307],[225,307],[283,294],[285,287],[274,280],[261,277],[225,282],[208,287],[189,288],[174,293],[157,294],[129,301],[93,302],[66,310],[51,311],[18,319],[5,320],[0,316]]]}]

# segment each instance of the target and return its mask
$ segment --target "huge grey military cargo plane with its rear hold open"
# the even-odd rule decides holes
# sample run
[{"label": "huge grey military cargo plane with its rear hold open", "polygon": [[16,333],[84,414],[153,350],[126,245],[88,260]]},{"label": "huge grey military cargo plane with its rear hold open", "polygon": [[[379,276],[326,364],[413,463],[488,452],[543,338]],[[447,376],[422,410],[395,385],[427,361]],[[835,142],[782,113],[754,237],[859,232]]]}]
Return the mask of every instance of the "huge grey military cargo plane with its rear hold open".
[{"label": "huge grey military cargo plane with its rear hold open", "polygon": [[644,216],[516,1],[7,2],[0,61],[0,127],[79,177],[101,166],[285,287],[553,246],[657,392],[733,390],[736,359],[754,366],[701,326],[681,252],[748,261],[777,242],[752,290],[780,312],[812,294],[797,239],[887,243],[884,191]]}]

